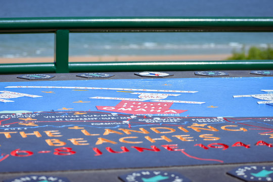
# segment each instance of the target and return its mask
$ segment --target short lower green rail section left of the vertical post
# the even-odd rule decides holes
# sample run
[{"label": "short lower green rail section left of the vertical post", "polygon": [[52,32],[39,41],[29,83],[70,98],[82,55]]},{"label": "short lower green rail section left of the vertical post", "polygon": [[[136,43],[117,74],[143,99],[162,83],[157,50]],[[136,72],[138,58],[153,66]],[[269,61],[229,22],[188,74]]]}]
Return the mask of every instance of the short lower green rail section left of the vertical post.
[{"label": "short lower green rail section left of the vertical post", "polygon": [[54,63],[14,63],[0,64],[0,73],[54,73]]}]

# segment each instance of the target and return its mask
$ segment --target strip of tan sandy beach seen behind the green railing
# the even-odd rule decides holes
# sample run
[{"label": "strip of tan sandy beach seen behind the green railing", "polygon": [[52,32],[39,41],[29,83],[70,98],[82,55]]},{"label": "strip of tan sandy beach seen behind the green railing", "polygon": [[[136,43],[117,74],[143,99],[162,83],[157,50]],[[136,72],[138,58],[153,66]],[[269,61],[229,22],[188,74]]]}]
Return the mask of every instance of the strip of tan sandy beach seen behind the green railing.
[{"label": "strip of tan sandy beach seen behind the green railing", "polygon": [[[69,57],[69,62],[128,62],[128,61],[213,61],[225,60],[230,54],[213,55],[151,55],[151,56],[82,56]],[[53,57],[0,58],[0,64],[7,63],[51,63]]]}]

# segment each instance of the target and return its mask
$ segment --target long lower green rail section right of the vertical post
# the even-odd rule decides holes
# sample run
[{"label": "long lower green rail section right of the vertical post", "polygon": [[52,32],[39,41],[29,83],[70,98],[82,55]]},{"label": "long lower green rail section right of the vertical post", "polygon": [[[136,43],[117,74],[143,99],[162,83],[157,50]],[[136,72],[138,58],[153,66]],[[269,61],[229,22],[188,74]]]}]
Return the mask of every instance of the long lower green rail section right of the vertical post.
[{"label": "long lower green rail section right of the vertical post", "polygon": [[191,70],[272,70],[272,60],[251,61],[160,61],[160,62],[77,62],[69,72],[86,71],[191,71]]}]

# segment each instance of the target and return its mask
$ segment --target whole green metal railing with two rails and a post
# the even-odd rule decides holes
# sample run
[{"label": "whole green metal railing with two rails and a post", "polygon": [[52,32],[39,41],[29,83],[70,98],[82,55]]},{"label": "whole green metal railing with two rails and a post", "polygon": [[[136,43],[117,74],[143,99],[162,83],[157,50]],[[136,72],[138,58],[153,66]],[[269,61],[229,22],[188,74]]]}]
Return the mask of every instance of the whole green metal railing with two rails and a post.
[{"label": "whole green metal railing with two rails and a post", "polygon": [[272,32],[273,17],[1,18],[0,33],[55,33],[54,63],[0,64],[0,73],[273,69],[273,60],[69,63],[73,32]]}]

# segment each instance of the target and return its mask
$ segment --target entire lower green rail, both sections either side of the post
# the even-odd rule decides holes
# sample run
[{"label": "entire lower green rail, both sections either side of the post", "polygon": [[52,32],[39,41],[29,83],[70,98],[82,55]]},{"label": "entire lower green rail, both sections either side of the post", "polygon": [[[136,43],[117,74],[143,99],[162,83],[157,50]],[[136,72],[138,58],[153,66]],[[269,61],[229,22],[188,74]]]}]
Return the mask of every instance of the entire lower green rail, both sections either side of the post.
[{"label": "entire lower green rail, both sections either side of the post", "polygon": [[[149,62],[75,62],[69,72],[99,71],[191,71],[191,70],[273,70],[272,60],[251,61],[149,61]],[[55,73],[54,63],[0,64],[0,73]]]}]

